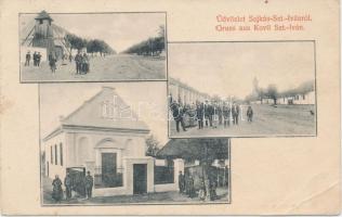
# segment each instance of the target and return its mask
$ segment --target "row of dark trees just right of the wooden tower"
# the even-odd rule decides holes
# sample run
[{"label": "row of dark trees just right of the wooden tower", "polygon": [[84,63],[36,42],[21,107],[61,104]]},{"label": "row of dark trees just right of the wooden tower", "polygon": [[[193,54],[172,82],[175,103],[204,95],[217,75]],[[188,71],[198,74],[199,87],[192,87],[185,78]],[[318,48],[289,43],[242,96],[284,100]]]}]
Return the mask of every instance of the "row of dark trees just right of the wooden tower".
[{"label": "row of dark trees just right of the wooden tower", "polygon": [[114,54],[116,53],[113,48],[108,43],[106,43],[104,40],[100,39],[91,39],[87,40],[84,38],[78,37],[74,34],[67,34],[65,36],[65,40],[68,43],[70,51],[73,52],[73,49],[81,50],[87,49],[88,53],[100,53],[103,55],[106,54]]}]

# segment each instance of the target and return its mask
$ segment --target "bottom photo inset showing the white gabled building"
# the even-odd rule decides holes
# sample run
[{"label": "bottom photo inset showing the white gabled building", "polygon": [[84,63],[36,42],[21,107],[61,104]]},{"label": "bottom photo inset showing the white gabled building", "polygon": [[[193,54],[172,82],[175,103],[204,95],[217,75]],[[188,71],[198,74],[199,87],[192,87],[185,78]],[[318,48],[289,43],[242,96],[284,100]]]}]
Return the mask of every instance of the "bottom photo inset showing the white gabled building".
[{"label": "bottom photo inset showing the white gabled building", "polygon": [[166,94],[157,82],[40,85],[42,205],[231,203],[231,140],[168,139]]}]

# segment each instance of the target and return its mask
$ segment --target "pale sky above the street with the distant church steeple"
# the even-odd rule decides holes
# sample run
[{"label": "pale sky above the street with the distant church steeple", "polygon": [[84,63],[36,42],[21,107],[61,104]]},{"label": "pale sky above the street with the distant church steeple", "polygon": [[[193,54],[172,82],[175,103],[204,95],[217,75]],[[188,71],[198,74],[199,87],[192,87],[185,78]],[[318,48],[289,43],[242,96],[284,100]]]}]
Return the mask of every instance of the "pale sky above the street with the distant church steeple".
[{"label": "pale sky above the street with the distant church steeple", "polygon": [[315,79],[313,42],[201,42],[168,44],[169,76],[223,98],[245,99],[274,84],[278,91]]}]

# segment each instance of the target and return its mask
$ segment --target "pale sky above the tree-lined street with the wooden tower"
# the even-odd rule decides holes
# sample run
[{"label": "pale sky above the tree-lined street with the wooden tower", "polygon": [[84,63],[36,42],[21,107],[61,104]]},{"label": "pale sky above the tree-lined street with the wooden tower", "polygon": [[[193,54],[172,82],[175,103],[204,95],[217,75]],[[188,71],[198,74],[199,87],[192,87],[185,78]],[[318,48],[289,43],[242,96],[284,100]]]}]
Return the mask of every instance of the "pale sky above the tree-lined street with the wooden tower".
[{"label": "pale sky above the tree-lined street with the wooden tower", "polygon": [[[87,39],[102,39],[114,50],[127,48],[158,35],[165,13],[50,14],[53,23]],[[21,28],[32,24],[37,14],[22,14]]]}]

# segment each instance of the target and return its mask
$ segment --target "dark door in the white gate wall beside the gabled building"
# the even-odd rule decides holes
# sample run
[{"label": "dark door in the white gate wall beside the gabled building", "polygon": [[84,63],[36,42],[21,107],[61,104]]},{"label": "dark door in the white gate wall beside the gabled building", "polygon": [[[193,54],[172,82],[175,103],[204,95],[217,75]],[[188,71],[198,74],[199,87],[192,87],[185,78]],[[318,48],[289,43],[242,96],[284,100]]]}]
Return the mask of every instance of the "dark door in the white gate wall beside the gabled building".
[{"label": "dark door in the white gate wall beside the gabled building", "polygon": [[147,164],[133,165],[133,194],[147,193]]}]

